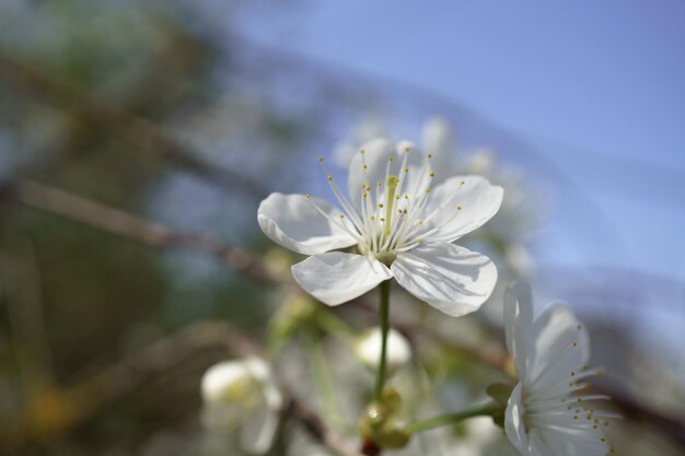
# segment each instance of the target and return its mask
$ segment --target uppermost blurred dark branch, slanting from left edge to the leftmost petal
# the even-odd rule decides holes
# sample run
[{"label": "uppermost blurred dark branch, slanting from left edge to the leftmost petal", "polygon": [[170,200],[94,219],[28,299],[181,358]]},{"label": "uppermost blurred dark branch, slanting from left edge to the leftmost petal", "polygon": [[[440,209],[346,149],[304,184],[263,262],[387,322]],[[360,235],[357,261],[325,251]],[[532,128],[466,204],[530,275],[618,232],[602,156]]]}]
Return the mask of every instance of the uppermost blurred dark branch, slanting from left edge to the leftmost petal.
[{"label": "uppermost blurred dark branch, slanting from left edge to the leftmost petal", "polygon": [[201,160],[200,153],[188,144],[171,138],[154,124],[114,107],[67,81],[0,54],[0,81],[14,91],[32,93],[42,100],[67,106],[82,115],[80,120],[92,128],[107,131],[143,152],[166,157],[184,169],[229,189],[242,189],[255,198],[264,198],[268,191],[243,174],[217,167]]}]

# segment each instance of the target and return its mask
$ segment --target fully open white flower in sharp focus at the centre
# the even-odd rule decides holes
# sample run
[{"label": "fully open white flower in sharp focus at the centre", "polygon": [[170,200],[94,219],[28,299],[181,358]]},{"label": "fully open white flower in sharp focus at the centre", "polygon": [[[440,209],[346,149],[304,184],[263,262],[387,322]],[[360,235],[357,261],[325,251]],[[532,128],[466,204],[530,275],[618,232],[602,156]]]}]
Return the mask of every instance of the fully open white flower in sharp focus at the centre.
[{"label": "fully open white flower in sharp focus at the centre", "polygon": [[[474,312],[492,292],[497,269],[488,257],[452,242],[497,212],[502,188],[479,176],[433,186],[431,161],[411,143],[394,148],[372,140],[350,163],[346,196],[320,159],[342,211],[311,196],[271,194],[259,204],[259,226],[281,246],[312,255],[292,273],[328,305],[394,277],[448,315]],[[329,252],[355,245],[356,254]]]}]

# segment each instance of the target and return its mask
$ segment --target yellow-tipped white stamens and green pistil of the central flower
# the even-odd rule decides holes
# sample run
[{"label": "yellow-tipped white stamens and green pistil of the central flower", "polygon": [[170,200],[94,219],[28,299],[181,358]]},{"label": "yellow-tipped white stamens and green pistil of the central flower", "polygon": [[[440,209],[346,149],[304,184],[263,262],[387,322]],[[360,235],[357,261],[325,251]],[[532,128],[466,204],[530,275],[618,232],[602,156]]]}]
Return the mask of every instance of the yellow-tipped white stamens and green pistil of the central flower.
[{"label": "yellow-tipped white stamens and green pistil of the central flower", "polygon": [[[369,167],[364,156],[367,152],[361,149],[359,153],[362,159],[362,173],[367,177],[358,189],[359,206],[355,206],[340,190],[323,157],[320,157],[318,162],[324,168],[328,184],[345,214],[338,214],[339,220],[335,220],[323,211],[314,200],[312,202],[318,212],[357,241],[361,254],[373,255],[390,264],[398,253],[415,248],[429,236],[438,233],[445,224],[452,222],[462,210],[461,206],[454,206],[453,214],[439,223],[432,223],[440,212],[449,204],[454,203],[456,197],[456,195],[450,196],[437,208],[427,211],[431,184],[436,176],[431,166],[432,154],[426,154],[422,165],[418,169],[414,169],[407,166],[409,153],[413,153],[411,149],[407,147],[404,149],[402,164],[396,172],[393,169],[395,159],[390,156],[385,166],[384,179],[371,183],[367,174]],[[409,182],[408,177],[411,173],[418,174],[417,182]],[[460,187],[464,184],[461,182]],[[346,218],[350,223],[345,223]]]}]

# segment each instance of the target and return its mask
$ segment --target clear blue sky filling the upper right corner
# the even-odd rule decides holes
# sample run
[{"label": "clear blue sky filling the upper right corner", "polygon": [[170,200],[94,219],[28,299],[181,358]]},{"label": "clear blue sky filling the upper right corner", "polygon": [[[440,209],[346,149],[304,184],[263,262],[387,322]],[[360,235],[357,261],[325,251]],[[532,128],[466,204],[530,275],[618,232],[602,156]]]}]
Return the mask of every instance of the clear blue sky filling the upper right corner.
[{"label": "clear blue sky filling the upper right corner", "polygon": [[[547,157],[590,195],[619,243],[582,258],[561,248],[555,259],[685,279],[685,2],[398,4],[255,9],[242,33],[429,89],[538,147],[564,144]],[[567,234],[552,226],[553,239]],[[592,220],[581,226],[592,236]]]}]

